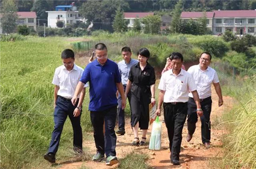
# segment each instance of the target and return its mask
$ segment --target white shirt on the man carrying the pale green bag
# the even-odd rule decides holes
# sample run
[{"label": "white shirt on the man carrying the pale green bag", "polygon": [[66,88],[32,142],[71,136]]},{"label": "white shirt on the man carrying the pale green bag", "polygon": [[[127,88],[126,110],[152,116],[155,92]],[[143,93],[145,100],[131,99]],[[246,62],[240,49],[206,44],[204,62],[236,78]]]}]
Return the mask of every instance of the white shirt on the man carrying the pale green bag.
[{"label": "white shirt on the man carrying the pale green bag", "polygon": [[197,90],[197,86],[192,76],[181,69],[177,76],[170,69],[162,74],[158,89],[165,91],[163,101],[169,102],[187,102],[189,91]]}]

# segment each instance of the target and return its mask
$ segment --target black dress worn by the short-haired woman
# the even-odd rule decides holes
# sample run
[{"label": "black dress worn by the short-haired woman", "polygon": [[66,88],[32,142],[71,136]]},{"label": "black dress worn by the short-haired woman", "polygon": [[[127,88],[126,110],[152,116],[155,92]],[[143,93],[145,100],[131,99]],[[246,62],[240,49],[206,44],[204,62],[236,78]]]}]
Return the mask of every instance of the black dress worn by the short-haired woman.
[{"label": "black dress worn by the short-haired woman", "polygon": [[134,127],[139,122],[140,129],[148,129],[150,121],[149,105],[151,103],[150,86],[156,82],[155,69],[147,63],[143,71],[140,63],[131,67],[128,79],[131,86],[131,123]]}]

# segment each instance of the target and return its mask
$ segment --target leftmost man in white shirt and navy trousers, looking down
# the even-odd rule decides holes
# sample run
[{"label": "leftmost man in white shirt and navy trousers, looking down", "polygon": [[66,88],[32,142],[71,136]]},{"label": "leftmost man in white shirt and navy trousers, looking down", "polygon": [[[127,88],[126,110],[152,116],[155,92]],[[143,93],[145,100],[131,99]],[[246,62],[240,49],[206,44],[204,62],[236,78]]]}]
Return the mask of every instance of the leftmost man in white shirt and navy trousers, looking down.
[{"label": "leftmost man in white shirt and navy trousers, looking down", "polygon": [[62,66],[56,68],[53,85],[54,85],[54,130],[52,132],[52,139],[48,153],[44,158],[49,162],[55,162],[55,155],[58,151],[60,135],[63,125],[69,116],[73,132],[73,146],[76,153],[82,153],[82,129],[80,125],[82,102],[85,89],[88,84],[84,85],[81,92],[80,99],[77,104],[73,105],[71,99],[75,93],[77,83],[82,76],[83,69],[74,64],[75,54],[71,49],[65,49],[61,53]]}]

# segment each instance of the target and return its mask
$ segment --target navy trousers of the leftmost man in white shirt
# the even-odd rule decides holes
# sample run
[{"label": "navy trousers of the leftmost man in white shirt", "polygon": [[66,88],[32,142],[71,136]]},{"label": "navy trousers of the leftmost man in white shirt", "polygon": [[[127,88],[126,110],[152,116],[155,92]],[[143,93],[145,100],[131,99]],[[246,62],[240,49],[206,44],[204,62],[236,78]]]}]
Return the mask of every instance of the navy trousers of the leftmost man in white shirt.
[{"label": "navy trousers of the leftmost man in white shirt", "polygon": [[73,106],[71,100],[58,96],[54,109],[54,130],[52,132],[52,139],[50,142],[48,153],[57,153],[63,125],[68,116],[73,127],[74,150],[82,150],[82,128],[80,125],[81,114],[78,117],[74,117],[73,115],[74,109],[77,107],[77,104]]}]

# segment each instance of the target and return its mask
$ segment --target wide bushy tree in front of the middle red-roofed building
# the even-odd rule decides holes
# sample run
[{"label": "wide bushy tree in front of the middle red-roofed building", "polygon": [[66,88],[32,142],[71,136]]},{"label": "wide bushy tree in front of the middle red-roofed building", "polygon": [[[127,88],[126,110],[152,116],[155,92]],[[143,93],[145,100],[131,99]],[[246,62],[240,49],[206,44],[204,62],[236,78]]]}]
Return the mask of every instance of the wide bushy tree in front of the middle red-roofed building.
[{"label": "wide bushy tree in front of the middle red-roofed building", "polygon": [[161,16],[149,15],[141,19],[141,23],[144,24],[145,34],[158,34],[161,25]]}]

